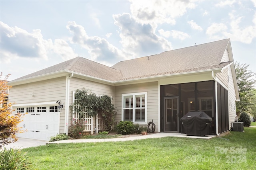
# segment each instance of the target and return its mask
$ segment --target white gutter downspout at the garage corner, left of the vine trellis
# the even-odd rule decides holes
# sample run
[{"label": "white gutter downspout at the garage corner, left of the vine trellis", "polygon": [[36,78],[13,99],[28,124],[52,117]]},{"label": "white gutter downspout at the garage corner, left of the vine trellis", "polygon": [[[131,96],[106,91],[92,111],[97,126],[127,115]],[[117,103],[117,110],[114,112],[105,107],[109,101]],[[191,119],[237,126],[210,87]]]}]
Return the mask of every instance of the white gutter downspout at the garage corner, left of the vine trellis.
[{"label": "white gutter downspout at the garage corner, left of the vine trellis", "polygon": [[66,79],[66,106],[65,106],[65,129],[64,133],[68,135],[68,109],[69,109],[69,88],[70,88],[70,79],[74,76],[72,73],[71,76],[67,76]]}]

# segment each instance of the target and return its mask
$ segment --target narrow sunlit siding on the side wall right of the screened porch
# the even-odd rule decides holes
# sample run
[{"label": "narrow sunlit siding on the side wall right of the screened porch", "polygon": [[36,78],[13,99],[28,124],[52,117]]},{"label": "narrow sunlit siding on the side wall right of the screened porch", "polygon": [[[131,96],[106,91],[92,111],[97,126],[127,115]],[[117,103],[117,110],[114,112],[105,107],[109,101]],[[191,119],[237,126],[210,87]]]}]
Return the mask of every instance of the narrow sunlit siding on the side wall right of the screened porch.
[{"label": "narrow sunlit siding on the side wall right of the screened porch", "polygon": [[236,92],[234,88],[234,81],[232,78],[232,72],[231,72],[231,67],[228,67],[228,72],[229,72],[229,86],[228,86],[228,105],[229,105],[229,127],[230,127],[230,122],[233,122],[235,117],[236,117]]}]

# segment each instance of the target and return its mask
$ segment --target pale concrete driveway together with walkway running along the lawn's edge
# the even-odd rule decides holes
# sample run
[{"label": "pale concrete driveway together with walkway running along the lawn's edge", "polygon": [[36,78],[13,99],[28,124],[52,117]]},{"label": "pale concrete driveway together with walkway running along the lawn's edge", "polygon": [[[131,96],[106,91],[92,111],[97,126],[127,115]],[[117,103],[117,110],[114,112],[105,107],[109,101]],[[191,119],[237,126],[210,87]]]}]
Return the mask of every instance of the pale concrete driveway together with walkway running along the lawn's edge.
[{"label": "pale concrete driveway together with walkway running along the lawn's edge", "polygon": [[117,142],[117,141],[134,141],[134,140],[140,140],[140,139],[160,138],[160,137],[186,137],[186,138],[209,140],[216,136],[208,135],[208,136],[200,137],[200,136],[187,136],[186,134],[182,134],[182,133],[154,133],[154,134],[148,134],[148,135],[138,135],[135,137],[122,137],[122,138],[112,138],[112,139],[69,139],[69,140],[55,141],[55,142],[18,138],[18,141],[5,145],[4,147],[6,149],[10,149],[10,148],[24,149],[29,147],[37,147],[41,145],[58,144],[58,143]]}]

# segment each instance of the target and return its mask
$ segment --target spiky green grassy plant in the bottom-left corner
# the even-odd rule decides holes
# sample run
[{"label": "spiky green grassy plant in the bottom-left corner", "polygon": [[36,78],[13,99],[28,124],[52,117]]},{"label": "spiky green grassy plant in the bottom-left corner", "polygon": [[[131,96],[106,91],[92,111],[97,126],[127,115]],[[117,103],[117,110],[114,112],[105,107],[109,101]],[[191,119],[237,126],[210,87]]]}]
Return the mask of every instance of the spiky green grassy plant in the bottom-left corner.
[{"label": "spiky green grassy plant in the bottom-left corner", "polygon": [[18,149],[0,151],[0,170],[29,170],[32,164],[28,162],[26,153]]}]

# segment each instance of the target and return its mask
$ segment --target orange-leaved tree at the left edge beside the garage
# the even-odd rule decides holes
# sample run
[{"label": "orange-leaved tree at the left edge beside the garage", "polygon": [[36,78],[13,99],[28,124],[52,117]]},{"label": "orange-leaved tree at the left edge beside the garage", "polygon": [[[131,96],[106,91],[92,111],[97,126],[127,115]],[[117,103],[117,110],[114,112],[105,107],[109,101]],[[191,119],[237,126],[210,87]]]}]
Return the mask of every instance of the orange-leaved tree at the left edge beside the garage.
[{"label": "orange-leaved tree at the left edge beside the garage", "polygon": [[[24,116],[22,113],[12,114],[12,103],[8,103],[8,90],[11,88],[7,83],[8,74],[3,80],[0,80],[0,148],[8,143],[17,141],[16,133],[22,132],[18,124]],[[0,78],[2,72],[0,73]]]}]

